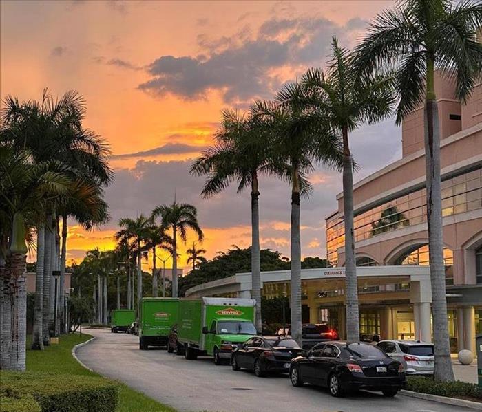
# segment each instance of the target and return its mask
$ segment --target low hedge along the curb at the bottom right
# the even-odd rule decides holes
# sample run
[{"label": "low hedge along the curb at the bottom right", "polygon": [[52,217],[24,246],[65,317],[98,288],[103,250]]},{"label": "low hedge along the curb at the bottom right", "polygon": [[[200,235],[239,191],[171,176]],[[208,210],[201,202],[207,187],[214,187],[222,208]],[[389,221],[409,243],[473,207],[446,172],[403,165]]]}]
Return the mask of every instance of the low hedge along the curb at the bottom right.
[{"label": "low hedge along the curb at the bottom right", "polygon": [[430,395],[448,396],[449,398],[482,399],[482,390],[474,383],[462,382],[434,382],[432,378],[408,376],[406,387],[408,391],[429,393]]}]

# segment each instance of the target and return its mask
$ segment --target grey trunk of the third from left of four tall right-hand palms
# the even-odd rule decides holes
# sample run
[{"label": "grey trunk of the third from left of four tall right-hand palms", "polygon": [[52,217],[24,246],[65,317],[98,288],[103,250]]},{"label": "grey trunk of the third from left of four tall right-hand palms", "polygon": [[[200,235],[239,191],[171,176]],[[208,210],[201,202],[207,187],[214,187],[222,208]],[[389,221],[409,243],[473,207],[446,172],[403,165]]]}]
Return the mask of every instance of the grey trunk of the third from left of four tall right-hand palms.
[{"label": "grey trunk of the third from left of four tall right-hand palms", "polygon": [[346,340],[358,342],[360,336],[357,263],[355,260],[355,234],[353,229],[353,158],[348,144],[348,130],[343,135],[343,210],[345,218],[345,283],[346,283]]}]

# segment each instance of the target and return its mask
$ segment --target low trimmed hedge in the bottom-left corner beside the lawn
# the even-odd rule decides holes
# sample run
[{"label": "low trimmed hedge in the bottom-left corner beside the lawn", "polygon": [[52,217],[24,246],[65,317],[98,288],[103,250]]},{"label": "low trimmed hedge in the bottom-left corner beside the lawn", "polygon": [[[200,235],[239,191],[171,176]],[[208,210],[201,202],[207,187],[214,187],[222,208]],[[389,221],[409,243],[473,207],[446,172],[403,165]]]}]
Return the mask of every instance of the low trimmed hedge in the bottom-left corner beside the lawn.
[{"label": "low trimmed hedge in the bottom-left corner beside the lawn", "polygon": [[112,412],[118,404],[116,385],[96,376],[2,372],[1,386],[2,393],[32,395],[41,412]]}]

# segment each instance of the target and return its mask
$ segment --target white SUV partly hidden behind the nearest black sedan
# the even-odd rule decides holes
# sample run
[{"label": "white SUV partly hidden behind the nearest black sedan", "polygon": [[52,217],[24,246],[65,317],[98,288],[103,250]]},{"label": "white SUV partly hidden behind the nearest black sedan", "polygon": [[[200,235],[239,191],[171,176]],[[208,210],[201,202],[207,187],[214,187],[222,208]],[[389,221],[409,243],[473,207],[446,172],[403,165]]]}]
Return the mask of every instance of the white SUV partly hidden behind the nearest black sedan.
[{"label": "white SUV partly hidden behind the nearest black sedan", "polygon": [[434,345],[419,340],[382,340],[377,347],[404,365],[407,375],[433,375]]}]

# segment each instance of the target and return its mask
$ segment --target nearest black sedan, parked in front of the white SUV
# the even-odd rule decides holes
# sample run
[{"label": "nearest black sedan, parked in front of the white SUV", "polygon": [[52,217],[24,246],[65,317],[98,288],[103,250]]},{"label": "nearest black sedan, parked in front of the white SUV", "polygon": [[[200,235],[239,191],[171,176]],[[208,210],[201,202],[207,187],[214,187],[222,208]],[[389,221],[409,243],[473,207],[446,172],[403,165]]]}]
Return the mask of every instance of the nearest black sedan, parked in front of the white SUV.
[{"label": "nearest black sedan, parked in front of the white SUV", "polygon": [[291,383],[328,387],[331,395],[350,390],[381,391],[395,396],[404,386],[404,367],[368,343],[319,343],[291,362]]}]

